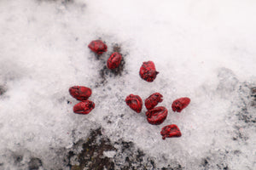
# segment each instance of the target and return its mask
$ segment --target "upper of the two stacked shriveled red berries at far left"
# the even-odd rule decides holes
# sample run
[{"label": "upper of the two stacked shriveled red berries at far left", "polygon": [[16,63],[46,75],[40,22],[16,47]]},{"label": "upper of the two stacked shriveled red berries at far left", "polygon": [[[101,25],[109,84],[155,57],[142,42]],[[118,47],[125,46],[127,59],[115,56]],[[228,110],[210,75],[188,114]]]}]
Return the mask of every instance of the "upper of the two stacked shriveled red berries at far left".
[{"label": "upper of the two stacked shriveled red berries at far left", "polygon": [[84,86],[73,86],[69,88],[69,94],[72,95],[73,98],[83,101],[90,97],[91,89]]}]

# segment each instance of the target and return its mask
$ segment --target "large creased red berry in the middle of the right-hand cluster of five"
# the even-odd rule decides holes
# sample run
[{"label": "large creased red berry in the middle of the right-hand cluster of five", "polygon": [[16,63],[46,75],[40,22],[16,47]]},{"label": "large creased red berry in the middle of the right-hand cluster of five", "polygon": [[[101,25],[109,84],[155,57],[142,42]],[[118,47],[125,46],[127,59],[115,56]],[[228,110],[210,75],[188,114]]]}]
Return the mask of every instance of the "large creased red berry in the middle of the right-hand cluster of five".
[{"label": "large creased red berry in the middle of the right-hand cluster of five", "polygon": [[154,109],[146,112],[148,122],[153,125],[160,125],[162,122],[164,122],[167,114],[168,111],[166,107],[163,106],[155,107]]}]

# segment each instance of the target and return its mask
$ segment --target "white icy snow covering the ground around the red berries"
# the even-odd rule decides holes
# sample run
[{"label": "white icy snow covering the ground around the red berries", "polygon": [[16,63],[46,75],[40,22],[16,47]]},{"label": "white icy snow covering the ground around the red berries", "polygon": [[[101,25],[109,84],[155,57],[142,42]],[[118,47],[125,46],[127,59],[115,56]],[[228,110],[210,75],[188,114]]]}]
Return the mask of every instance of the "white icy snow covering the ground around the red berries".
[{"label": "white icy snow covering the ground around the red berries", "polygon": [[[253,169],[255,8],[250,0],[2,0],[0,169],[20,169],[31,157],[57,169],[56,150],[98,127],[113,142],[134,143],[155,168]],[[100,57],[87,48],[98,38],[108,44]],[[125,59],[118,73],[105,66],[116,45]],[[150,83],[138,75],[148,60],[160,72]],[[92,89],[89,115],[73,114],[73,85]],[[169,111],[159,126],[147,122],[144,106],[137,114],[125,105],[128,94],[155,92]],[[174,113],[172,101],[185,96],[191,103]],[[183,136],[162,140],[169,124]]]}]

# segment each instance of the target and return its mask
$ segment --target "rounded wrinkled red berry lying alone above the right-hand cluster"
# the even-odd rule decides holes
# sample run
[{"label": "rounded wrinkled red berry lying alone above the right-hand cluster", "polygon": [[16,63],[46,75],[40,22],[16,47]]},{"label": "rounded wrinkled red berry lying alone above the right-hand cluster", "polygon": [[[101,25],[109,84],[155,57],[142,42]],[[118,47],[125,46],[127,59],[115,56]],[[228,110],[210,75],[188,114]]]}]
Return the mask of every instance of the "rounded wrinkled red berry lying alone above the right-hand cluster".
[{"label": "rounded wrinkled red berry lying alone above the right-hand cluster", "polygon": [[143,62],[140,68],[140,76],[147,82],[153,82],[158,73],[158,71],[155,71],[153,61]]}]

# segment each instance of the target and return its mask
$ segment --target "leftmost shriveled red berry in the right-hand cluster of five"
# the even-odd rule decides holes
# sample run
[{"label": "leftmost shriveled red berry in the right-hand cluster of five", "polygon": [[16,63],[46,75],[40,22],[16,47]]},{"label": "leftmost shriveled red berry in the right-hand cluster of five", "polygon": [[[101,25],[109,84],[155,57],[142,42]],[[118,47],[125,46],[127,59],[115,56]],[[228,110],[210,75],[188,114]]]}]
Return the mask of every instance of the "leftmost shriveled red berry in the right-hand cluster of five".
[{"label": "leftmost shriveled red berry in the right-hand cluster of five", "polygon": [[137,113],[140,113],[143,109],[143,100],[138,95],[130,94],[126,97],[125,102],[126,105],[129,105],[129,107]]}]

